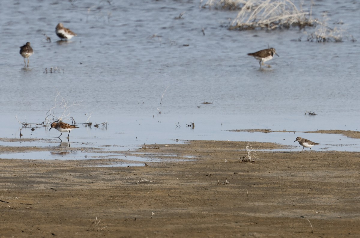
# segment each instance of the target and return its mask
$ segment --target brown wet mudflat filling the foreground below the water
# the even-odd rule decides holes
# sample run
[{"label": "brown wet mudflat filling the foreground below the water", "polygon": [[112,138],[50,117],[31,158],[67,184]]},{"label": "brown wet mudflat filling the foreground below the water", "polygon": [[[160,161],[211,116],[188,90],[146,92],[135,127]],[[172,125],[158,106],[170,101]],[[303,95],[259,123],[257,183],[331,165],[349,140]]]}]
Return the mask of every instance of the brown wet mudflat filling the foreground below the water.
[{"label": "brown wet mudflat filling the foreground below the water", "polygon": [[[239,163],[246,144],[139,146],[147,155],[177,155],[146,167],[0,159],[0,237],[360,236],[359,152],[313,147],[298,154],[297,146],[258,151],[255,163]],[[0,158],[9,150],[0,147]],[[152,182],[137,184],[141,179]]]}]

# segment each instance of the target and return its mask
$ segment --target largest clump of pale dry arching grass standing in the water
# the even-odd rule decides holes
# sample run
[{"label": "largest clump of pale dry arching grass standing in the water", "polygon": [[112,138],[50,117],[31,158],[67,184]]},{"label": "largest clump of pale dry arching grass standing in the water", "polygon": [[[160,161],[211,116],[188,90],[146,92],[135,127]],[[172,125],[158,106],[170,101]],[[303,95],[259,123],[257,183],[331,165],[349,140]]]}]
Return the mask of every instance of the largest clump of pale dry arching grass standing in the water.
[{"label": "largest clump of pale dry arching grass standing in the water", "polygon": [[[310,18],[306,16],[310,15]],[[316,26],[318,21],[311,14],[299,10],[290,0],[247,1],[231,22],[229,29],[276,29],[298,26],[300,29]]]}]

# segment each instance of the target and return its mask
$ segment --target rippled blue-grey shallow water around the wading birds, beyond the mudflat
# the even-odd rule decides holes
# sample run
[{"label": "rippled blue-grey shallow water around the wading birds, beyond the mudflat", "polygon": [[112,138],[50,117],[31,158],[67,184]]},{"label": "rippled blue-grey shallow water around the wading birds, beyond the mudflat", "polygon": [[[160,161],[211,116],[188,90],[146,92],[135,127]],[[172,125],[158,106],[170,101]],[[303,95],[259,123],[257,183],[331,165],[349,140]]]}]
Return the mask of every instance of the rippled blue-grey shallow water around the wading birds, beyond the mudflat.
[{"label": "rippled blue-grey shallow water around the wading birds, beyond the mudflat", "polygon": [[[15,116],[41,123],[59,92],[68,106],[75,102],[64,113],[71,113],[80,126],[70,133],[72,147],[85,143],[128,150],[144,143],[183,143],[176,139],[217,139],[301,149],[293,143],[301,136],[321,143],[314,150],[359,151],[358,139],[339,135],[229,132],[358,130],[359,41],[307,42],[313,28],[306,28],[307,33],[297,28],[229,31],[226,26],[237,12],[199,9],[199,1],[72,3],[1,1],[1,137],[19,138],[21,124]],[[305,1],[303,8],[309,7]],[[174,19],[183,12],[182,19]],[[321,19],[323,12],[328,12],[330,27],[360,39],[358,1],[316,2],[313,17]],[[344,24],[333,25],[337,20]],[[59,22],[78,36],[58,43],[54,31]],[[292,41],[300,37],[300,42]],[[19,47],[27,41],[34,54],[24,68]],[[246,54],[268,44],[280,57],[267,62],[272,68],[259,70]],[[59,71],[49,73],[51,67]],[[63,112],[59,107],[54,111],[58,117]],[[83,127],[80,123],[90,114],[90,122],[108,122],[107,129]],[[192,122],[194,129],[186,126]],[[53,142],[36,146],[56,146],[59,139],[54,137],[60,134],[48,128],[21,133]]]}]

